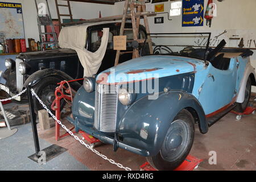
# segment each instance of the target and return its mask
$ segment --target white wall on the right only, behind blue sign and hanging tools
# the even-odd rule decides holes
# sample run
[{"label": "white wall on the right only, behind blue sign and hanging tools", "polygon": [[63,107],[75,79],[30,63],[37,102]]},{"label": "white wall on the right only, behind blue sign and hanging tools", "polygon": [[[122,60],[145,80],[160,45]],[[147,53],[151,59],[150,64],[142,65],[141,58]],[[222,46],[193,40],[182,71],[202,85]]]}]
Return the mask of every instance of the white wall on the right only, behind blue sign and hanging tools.
[{"label": "white wall on the right only, behind blue sign and hanging tools", "polygon": [[[207,7],[208,0],[204,1],[204,8]],[[163,24],[154,24],[154,18],[152,16],[148,18],[150,24],[150,32],[212,32],[213,36],[224,30],[230,32],[225,34],[220,38],[225,38],[226,42],[229,43],[229,37],[231,37],[233,32],[237,29],[243,32],[243,38],[245,39],[244,44],[247,46],[247,39],[256,40],[256,1],[255,0],[224,0],[223,2],[218,2],[213,0],[217,5],[217,17],[212,20],[212,26],[206,26],[206,20],[204,19],[203,27],[181,27],[182,16],[172,16],[168,20],[167,14],[159,14],[157,16],[164,16]],[[122,14],[123,2],[115,3],[115,10],[117,14]],[[152,4],[156,5],[156,3]],[[168,12],[171,9],[171,2],[164,2],[164,11]],[[254,37],[246,35],[246,30],[255,32]],[[215,35],[214,35],[215,33]],[[251,47],[254,47],[254,43],[251,42]],[[251,56],[251,64],[256,68],[256,51],[254,55]],[[253,92],[256,92],[256,87],[253,87]]]}]

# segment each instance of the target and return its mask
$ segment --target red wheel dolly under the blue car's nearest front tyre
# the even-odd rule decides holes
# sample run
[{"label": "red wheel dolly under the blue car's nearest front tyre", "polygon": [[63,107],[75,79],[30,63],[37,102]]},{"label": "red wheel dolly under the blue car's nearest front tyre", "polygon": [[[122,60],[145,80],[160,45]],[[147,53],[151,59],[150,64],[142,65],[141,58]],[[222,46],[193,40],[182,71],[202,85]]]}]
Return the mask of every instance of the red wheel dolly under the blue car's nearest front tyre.
[{"label": "red wheel dolly under the blue car's nearest front tyre", "polygon": [[[193,171],[193,169],[197,168],[197,166],[202,162],[202,159],[197,159],[192,155],[188,155],[187,158],[184,160],[179,167],[174,169],[174,171]],[[140,167],[141,171],[158,171],[154,167],[150,166],[148,162],[142,164]]]}]

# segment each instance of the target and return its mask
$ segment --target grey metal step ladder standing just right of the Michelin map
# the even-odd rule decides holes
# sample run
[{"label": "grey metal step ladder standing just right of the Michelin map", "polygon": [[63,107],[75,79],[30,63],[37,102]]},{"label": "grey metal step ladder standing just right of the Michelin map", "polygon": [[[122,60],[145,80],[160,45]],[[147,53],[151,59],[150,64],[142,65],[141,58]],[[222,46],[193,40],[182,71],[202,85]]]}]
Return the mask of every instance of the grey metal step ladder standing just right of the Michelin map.
[{"label": "grey metal step ladder standing just right of the Michelin map", "polygon": [[[46,44],[55,44],[55,48],[59,48],[59,44],[58,44],[58,41],[57,41],[57,35],[56,35],[55,29],[54,29],[54,26],[53,26],[53,23],[52,23],[51,13],[49,11],[48,1],[46,0],[46,7],[47,7],[48,14],[39,14],[38,3],[36,2],[36,0],[35,0],[35,5],[36,5],[36,12],[38,14],[37,18],[38,18],[38,30],[39,30],[39,35],[40,35],[41,50],[45,51]],[[41,26],[51,26],[52,32],[42,32],[42,27]],[[46,35],[52,35],[53,41],[47,42]]]}]

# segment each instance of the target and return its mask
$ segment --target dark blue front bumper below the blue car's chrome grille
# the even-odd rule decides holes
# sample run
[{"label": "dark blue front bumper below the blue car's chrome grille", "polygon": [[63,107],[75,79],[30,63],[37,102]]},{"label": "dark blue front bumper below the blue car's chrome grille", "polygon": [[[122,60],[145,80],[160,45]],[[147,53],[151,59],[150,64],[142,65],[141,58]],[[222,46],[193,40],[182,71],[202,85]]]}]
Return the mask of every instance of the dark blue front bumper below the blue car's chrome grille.
[{"label": "dark blue front bumper below the blue car's chrome grille", "polygon": [[148,152],[146,150],[142,150],[141,148],[129,146],[119,140],[114,142],[115,138],[109,137],[108,135],[101,133],[100,131],[94,129],[94,127],[86,127],[86,126],[82,125],[80,122],[78,122],[77,120],[75,121],[74,119],[72,119],[70,117],[68,117],[67,119],[69,122],[71,122],[75,126],[76,131],[82,130],[85,133],[88,133],[88,134],[92,135],[93,137],[101,140],[102,142],[113,144],[115,148],[120,147],[127,151],[134,152],[135,154],[139,154],[142,156],[150,156],[150,152]]}]

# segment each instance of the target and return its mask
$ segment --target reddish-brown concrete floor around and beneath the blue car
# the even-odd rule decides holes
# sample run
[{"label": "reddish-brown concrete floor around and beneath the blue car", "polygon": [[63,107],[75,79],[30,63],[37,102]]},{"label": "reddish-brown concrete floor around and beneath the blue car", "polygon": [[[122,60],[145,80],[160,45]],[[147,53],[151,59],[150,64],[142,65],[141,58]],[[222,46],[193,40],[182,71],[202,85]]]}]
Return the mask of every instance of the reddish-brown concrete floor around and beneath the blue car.
[{"label": "reddish-brown concrete floor around and beneath the blue car", "polygon": [[[63,121],[63,123],[66,126],[71,126],[67,121]],[[65,137],[56,142],[54,132],[54,128],[47,131],[39,129],[41,138],[68,148],[69,154],[89,169],[120,170],[100,156],[93,154],[72,137]],[[80,134],[77,135],[82,138]],[[113,152],[113,146],[110,144],[101,144],[95,149],[133,170],[139,170],[139,166],[146,162],[143,156],[120,148],[117,152]],[[216,151],[217,164],[210,165],[208,163],[211,156],[209,155],[210,151]],[[199,168],[195,169],[197,171],[256,170],[256,114],[244,116],[241,121],[236,121],[236,114],[229,113],[210,127],[207,134],[201,134],[196,127],[195,140],[190,154],[204,160],[200,163]]]}]

